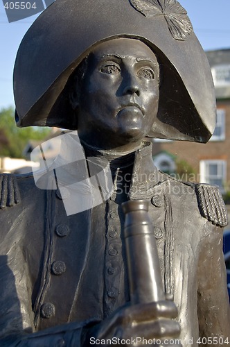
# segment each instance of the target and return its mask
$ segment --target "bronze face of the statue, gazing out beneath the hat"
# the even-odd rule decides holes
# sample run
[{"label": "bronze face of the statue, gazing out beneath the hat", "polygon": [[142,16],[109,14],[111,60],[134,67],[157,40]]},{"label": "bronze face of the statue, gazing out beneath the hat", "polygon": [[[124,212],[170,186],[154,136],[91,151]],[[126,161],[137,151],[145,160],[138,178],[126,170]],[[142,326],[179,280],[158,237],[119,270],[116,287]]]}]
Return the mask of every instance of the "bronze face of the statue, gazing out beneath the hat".
[{"label": "bronze face of the statue, gazing out beneath the hat", "polygon": [[100,43],[78,97],[78,133],[102,148],[138,142],[152,128],[158,101],[159,65],[151,49],[129,38]]}]

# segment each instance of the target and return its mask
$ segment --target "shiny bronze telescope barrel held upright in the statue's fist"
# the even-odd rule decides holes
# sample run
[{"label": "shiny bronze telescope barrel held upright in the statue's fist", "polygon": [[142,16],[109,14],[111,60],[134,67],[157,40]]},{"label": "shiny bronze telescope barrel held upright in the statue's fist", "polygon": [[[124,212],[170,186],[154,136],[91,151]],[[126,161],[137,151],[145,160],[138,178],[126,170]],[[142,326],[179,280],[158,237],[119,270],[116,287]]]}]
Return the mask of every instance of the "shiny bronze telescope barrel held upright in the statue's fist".
[{"label": "shiny bronze telescope barrel held upright in the statue's fist", "polygon": [[165,300],[148,201],[123,203],[125,248],[132,304]]}]

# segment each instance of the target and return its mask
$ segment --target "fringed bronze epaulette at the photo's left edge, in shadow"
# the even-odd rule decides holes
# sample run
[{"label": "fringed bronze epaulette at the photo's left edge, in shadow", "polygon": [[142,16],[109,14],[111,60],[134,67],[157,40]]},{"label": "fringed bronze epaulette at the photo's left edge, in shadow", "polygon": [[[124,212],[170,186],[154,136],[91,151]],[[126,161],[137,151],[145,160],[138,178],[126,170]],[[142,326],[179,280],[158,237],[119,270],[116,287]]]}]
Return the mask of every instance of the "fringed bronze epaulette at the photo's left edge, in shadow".
[{"label": "fringed bronze epaulette at the photo's left edge, in shadow", "polygon": [[0,174],[0,209],[20,202],[17,178],[12,174]]}]

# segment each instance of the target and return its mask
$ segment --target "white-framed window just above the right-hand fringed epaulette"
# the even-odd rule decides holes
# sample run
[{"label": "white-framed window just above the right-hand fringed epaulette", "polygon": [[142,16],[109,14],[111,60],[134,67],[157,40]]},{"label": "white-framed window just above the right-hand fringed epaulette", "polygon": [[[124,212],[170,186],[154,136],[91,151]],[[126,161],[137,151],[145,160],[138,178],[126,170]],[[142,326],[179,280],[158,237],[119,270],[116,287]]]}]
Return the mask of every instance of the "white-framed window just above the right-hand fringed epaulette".
[{"label": "white-framed window just above the right-hand fringed epaulette", "polygon": [[[210,164],[216,164],[218,165],[218,174],[211,176],[209,172],[207,172],[207,168]],[[217,180],[222,181],[221,185],[217,184],[220,187],[220,191],[224,192],[224,182],[226,182],[227,178],[227,162],[226,160],[200,160],[200,183],[209,183],[213,185],[211,180]]]}]

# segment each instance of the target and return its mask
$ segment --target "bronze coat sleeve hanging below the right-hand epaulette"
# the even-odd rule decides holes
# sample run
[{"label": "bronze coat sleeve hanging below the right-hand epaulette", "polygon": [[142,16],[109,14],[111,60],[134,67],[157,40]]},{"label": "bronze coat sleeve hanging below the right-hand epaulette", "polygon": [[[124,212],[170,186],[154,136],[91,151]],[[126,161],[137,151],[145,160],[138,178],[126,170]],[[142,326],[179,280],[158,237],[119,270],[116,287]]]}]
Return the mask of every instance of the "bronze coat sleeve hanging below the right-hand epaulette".
[{"label": "bronze coat sleeve hanging below the right-hand epaulette", "polygon": [[[229,346],[230,315],[222,228],[206,221],[198,266],[198,316],[201,341],[208,346]],[[202,337],[204,339],[202,340]],[[218,344],[215,344],[218,341]],[[225,341],[222,343],[222,341]]]}]

